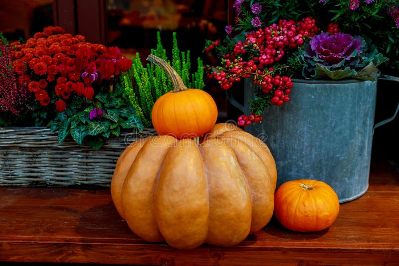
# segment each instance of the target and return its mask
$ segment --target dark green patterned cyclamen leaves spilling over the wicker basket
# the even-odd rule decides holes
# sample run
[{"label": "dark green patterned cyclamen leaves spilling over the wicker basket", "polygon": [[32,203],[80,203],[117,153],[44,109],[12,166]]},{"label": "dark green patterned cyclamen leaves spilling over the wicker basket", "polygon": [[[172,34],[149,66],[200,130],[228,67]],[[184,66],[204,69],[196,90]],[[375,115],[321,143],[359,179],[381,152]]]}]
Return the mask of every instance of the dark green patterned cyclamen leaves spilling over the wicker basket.
[{"label": "dark green patterned cyclamen leaves spilling over the wicker basket", "polygon": [[[118,80],[113,91],[103,87],[93,101],[73,96],[71,105],[50,123],[50,129],[58,131],[58,141],[63,142],[70,135],[79,145],[99,149],[105,138],[119,136],[122,129],[143,131],[143,123],[128,100],[122,82],[122,78]],[[94,108],[101,109],[103,116],[90,120]]]}]

